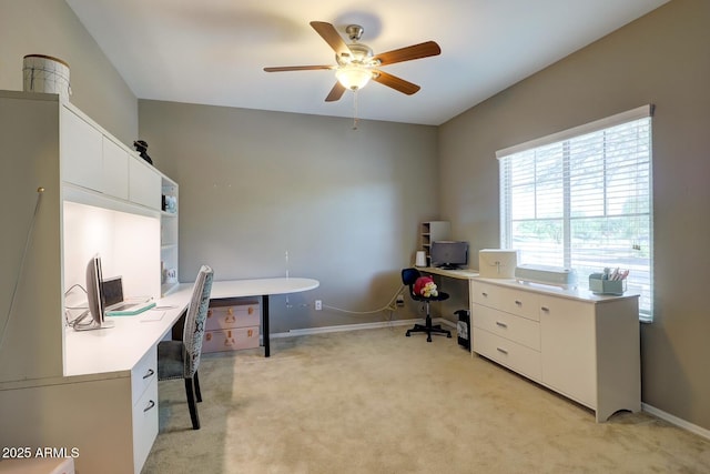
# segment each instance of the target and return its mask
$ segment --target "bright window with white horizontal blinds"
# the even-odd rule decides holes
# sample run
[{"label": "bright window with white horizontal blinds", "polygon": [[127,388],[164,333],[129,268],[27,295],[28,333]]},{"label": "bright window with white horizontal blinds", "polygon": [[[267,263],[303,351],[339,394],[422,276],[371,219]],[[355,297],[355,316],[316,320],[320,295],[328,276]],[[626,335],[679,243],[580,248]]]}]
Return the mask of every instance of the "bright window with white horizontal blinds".
[{"label": "bright window with white horizontal blinds", "polygon": [[580,286],[629,270],[652,319],[651,115],[646,105],[496,153],[500,246],[520,262],[575,269]]}]

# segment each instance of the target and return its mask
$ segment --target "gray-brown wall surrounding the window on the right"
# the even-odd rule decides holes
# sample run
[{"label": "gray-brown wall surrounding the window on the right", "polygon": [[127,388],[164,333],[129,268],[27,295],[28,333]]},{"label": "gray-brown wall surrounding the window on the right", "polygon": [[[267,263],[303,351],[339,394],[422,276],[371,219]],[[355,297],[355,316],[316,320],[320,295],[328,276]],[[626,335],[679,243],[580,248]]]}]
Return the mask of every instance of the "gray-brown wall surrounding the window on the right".
[{"label": "gray-brown wall surrounding the window on the right", "polygon": [[673,0],[440,127],[442,213],[496,248],[495,151],[646,103],[653,118],[656,315],[642,400],[710,428],[710,2]]}]

